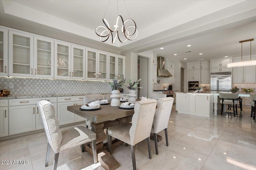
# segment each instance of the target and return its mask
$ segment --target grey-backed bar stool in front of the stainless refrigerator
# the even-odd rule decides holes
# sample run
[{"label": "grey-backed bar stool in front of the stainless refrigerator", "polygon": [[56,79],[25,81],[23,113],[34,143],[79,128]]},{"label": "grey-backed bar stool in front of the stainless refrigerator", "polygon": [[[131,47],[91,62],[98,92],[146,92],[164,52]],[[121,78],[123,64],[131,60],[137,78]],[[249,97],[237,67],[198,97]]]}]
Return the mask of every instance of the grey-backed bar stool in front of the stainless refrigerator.
[{"label": "grey-backed bar stool in front of the stainless refrigerator", "polygon": [[[238,98],[238,95],[239,95],[238,93],[222,93],[222,92],[219,93],[219,97],[222,99],[222,100],[220,100],[220,103],[221,103],[221,115],[223,113],[224,104],[228,104],[228,105],[233,105],[233,113],[234,113],[234,117],[236,117],[236,113],[237,113],[237,100],[235,100],[235,99]],[[236,106],[236,111],[235,111],[235,106]]]}]

